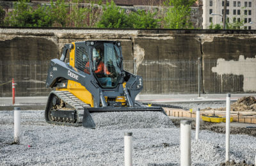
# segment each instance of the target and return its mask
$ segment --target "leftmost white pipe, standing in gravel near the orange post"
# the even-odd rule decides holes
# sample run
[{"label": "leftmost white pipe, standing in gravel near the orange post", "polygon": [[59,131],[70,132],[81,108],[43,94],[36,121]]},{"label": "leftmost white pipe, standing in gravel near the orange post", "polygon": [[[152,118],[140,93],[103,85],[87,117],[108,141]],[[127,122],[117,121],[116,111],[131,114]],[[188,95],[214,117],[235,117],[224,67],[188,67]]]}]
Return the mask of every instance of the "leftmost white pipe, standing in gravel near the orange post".
[{"label": "leftmost white pipe, standing in gravel near the orange post", "polygon": [[20,108],[14,107],[14,143],[20,144]]}]

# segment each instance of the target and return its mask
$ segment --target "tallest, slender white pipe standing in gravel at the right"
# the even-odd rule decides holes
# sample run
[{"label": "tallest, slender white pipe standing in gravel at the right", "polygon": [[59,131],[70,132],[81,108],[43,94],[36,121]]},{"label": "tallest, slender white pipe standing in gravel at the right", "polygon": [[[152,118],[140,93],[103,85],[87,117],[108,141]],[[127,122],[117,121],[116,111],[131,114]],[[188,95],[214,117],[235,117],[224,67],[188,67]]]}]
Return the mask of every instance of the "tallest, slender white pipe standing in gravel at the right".
[{"label": "tallest, slender white pipe standing in gravel at the right", "polygon": [[230,93],[227,94],[226,102],[226,162],[229,161],[229,140],[230,140]]}]

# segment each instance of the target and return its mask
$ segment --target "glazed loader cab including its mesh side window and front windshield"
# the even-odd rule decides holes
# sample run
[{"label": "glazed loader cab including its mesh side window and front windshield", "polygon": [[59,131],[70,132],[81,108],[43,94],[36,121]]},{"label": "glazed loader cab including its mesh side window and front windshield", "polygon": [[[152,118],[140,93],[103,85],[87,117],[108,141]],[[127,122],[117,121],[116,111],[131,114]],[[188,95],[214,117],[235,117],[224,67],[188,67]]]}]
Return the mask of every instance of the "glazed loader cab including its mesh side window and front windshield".
[{"label": "glazed loader cab including its mesh side window and front windshield", "polygon": [[75,68],[92,74],[99,86],[115,88],[122,79],[122,50],[117,41],[76,43]]}]

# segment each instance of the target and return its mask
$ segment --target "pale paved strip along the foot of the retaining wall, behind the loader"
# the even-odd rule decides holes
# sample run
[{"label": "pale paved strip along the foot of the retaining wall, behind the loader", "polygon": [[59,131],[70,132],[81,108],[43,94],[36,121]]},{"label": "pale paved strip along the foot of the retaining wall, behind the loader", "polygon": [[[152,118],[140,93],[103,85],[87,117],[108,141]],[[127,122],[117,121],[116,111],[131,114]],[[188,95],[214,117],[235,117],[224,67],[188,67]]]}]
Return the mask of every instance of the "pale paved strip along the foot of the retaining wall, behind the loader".
[{"label": "pale paved strip along the foot of the retaining wall, behind the loader", "polygon": [[[235,102],[243,96],[255,96],[256,93],[231,94],[230,100]],[[198,103],[198,102],[225,102],[227,94],[141,94],[136,100],[148,103]],[[44,97],[16,97],[15,105],[45,105],[47,96]],[[14,105],[14,106],[15,106]],[[12,98],[0,98],[0,106],[13,106]]]}]

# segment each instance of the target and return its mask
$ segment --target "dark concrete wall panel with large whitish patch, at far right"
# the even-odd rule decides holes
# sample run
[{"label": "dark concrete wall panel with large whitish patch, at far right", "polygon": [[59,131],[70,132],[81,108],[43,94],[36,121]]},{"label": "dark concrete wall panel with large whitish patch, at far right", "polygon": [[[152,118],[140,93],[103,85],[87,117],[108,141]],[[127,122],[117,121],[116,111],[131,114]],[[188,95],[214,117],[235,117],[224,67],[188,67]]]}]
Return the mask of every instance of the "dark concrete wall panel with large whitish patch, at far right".
[{"label": "dark concrete wall panel with large whitish patch, at far right", "polygon": [[255,35],[205,35],[204,40],[204,92],[255,92]]}]

